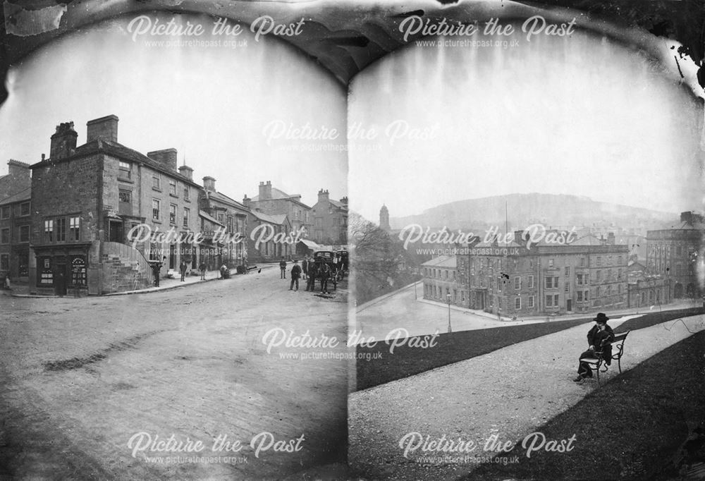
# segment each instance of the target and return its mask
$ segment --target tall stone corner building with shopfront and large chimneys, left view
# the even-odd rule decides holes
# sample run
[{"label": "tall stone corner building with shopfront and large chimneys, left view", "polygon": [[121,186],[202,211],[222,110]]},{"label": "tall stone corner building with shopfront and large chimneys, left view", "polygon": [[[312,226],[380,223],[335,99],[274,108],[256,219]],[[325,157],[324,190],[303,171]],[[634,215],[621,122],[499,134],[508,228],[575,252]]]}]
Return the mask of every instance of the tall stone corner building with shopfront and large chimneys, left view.
[{"label": "tall stone corner building with shopfront and large chimneys, left view", "polygon": [[177,170],[175,149],[136,152],[118,143],[118,117],[87,122],[77,146],[73,122],[51,135],[49,158],[32,169],[29,286],[32,293],[100,295],[152,283],[149,261],[176,269],[196,250],[173,240],[133,243],[128,232],[195,232],[198,190],[190,169]]}]

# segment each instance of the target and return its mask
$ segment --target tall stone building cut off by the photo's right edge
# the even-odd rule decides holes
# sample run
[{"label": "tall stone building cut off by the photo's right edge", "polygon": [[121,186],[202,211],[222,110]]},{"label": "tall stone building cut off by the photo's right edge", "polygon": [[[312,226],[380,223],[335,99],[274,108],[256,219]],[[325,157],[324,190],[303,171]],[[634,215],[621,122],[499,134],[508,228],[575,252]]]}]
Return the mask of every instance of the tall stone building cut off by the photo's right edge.
[{"label": "tall stone building cut off by the photo's right edge", "polygon": [[646,232],[646,272],[668,281],[671,298],[702,296],[698,266],[703,262],[699,257],[704,236],[703,217],[694,212],[682,212],[675,229]]}]

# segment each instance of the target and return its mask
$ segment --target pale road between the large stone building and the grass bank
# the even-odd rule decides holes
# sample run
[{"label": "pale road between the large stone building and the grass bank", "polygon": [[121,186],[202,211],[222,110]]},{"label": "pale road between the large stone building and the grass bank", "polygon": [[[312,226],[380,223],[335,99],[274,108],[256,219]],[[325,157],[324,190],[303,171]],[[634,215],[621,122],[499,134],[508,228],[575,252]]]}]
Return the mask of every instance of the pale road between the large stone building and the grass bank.
[{"label": "pale road between the large stone building and the grass bank", "polygon": [[[419,284],[419,283],[417,283]],[[655,310],[674,310],[701,307],[702,303],[695,300],[671,303],[668,305],[654,305],[649,308],[632,308],[624,310],[606,311],[610,317],[618,315],[635,315]],[[587,319],[594,315],[590,313],[577,313],[561,316],[533,316],[522,317],[517,320],[503,317],[497,319],[496,315],[482,310],[471,310],[450,306],[450,322],[448,319],[448,305],[423,298],[423,289],[410,284],[399,291],[381,296],[360,305],[350,312],[350,329],[355,329],[362,334],[362,338],[385,339],[387,334],[395,329],[406,329],[409,336],[423,336],[436,332],[470,331],[473,329],[489,329],[492,327],[506,327],[536,322],[556,322],[570,319]]]}]

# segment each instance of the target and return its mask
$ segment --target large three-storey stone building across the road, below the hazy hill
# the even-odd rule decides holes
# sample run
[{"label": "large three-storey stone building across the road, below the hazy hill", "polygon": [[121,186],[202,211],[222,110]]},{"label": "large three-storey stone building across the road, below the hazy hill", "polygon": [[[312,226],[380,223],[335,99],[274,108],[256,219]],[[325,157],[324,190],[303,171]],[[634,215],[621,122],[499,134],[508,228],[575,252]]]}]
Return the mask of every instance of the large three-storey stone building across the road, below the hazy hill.
[{"label": "large three-storey stone building across the road, below the hazy hill", "polygon": [[[627,245],[611,243],[613,238],[580,238],[527,248],[521,236],[517,231],[510,243],[475,239],[458,246],[453,286],[440,286],[452,303],[504,317],[627,308]],[[431,285],[431,265],[423,265],[424,284]]]}]

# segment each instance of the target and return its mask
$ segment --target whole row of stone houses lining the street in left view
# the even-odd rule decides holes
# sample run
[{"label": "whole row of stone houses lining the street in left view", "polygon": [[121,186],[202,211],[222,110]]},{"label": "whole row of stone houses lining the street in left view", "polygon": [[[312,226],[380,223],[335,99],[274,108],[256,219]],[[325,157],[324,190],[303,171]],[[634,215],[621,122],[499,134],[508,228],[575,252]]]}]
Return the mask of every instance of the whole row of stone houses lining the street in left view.
[{"label": "whole row of stone houses lining the street in left view", "polygon": [[[288,235],[311,224],[312,208],[300,195],[277,190],[280,198],[262,212],[247,196],[243,203],[218,192],[211,176],[196,183],[191,167],[178,166],[176,149],[145,155],[125,147],[115,115],[88,121],[85,144],[77,139],[73,122],[60,123],[48,158],[42,154],[33,165],[11,160],[0,177],[0,275],[26,281],[32,293],[144,288],[154,281],[155,262],[165,274],[182,261],[195,272],[201,262],[214,270],[289,257],[295,245],[255,248],[250,226],[269,224]],[[261,183],[260,193],[262,185],[271,189]],[[169,235],[148,235],[157,232]],[[200,243],[190,242],[194,233]],[[233,238],[243,240],[228,242]]]}]

